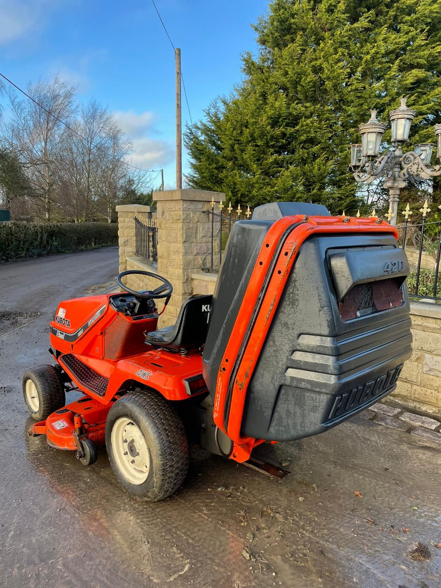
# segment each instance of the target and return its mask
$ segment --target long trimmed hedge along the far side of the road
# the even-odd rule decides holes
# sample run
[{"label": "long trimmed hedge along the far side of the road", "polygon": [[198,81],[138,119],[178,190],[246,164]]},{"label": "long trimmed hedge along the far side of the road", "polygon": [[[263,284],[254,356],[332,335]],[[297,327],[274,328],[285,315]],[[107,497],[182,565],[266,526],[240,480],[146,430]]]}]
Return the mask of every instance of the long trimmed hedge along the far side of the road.
[{"label": "long trimmed hedge along the far side of the road", "polygon": [[118,223],[0,223],[0,263],[118,243]]}]

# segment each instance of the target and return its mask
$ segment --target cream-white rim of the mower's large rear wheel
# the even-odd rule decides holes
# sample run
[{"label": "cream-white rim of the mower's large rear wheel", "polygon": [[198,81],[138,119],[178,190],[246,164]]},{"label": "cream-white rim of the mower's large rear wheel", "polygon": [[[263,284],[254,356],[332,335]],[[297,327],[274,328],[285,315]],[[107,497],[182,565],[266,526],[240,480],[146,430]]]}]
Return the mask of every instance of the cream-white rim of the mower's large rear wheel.
[{"label": "cream-white rim of the mower's large rear wheel", "polygon": [[113,457],[119,471],[131,484],[142,484],[150,472],[150,452],[138,425],[121,417],[112,428]]}]

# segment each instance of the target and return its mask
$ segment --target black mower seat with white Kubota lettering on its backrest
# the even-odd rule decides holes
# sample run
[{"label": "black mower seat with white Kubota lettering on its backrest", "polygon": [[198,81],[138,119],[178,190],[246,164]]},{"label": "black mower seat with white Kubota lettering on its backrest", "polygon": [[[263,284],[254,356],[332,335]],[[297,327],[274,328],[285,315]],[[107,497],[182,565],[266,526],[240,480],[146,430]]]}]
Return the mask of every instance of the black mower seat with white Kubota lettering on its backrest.
[{"label": "black mower seat with white Kubota lettering on its backrest", "polygon": [[145,333],[147,345],[171,349],[196,349],[205,343],[213,296],[187,298],[174,325]]}]

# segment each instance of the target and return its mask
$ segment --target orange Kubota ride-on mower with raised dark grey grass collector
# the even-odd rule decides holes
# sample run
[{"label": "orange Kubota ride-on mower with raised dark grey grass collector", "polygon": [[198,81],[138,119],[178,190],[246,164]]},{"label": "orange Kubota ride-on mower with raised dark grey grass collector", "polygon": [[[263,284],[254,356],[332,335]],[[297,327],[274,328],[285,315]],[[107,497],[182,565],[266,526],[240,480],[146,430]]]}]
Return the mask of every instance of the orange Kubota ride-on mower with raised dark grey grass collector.
[{"label": "orange Kubota ride-on mower with raised dark grey grass collector", "polygon": [[[133,291],[129,273],[160,285]],[[378,218],[259,206],[233,225],[214,295],[185,300],[175,325],[157,330],[172,285],[148,272],[121,273],[123,293],[61,302],[56,365],[23,379],[29,434],[83,465],[105,443],[119,482],[160,500],[181,486],[189,442],[250,463],[266,440],[325,432],[395,388],[411,353],[408,273]]]}]

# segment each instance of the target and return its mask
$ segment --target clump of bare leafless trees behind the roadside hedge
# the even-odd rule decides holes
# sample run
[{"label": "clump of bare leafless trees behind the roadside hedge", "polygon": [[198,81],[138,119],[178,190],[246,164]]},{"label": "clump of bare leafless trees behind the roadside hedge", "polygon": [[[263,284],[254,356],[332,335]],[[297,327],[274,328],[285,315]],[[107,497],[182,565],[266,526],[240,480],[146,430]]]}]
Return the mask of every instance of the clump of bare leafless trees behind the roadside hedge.
[{"label": "clump of bare leafless trees behind the roadside hedge", "polygon": [[151,182],[149,173],[130,173],[131,143],[108,109],[95,100],[79,108],[75,88],[58,76],[29,85],[28,93],[35,102],[9,92],[12,117],[0,121],[0,153],[10,154],[26,180],[26,190],[14,192],[16,218],[112,222],[128,182],[132,191]]}]

